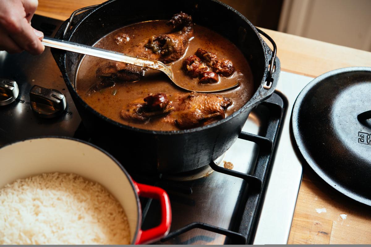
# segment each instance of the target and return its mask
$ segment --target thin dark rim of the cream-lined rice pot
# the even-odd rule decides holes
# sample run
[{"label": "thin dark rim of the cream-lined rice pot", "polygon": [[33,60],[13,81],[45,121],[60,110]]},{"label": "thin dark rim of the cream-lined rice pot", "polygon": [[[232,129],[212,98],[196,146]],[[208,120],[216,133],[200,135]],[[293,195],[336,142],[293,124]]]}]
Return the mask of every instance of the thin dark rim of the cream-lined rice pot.
[{"label": "thin dark rim of the cream-lined rice pot", "polygon": [[132,190],[134,191],[135,198],[137,200],[137,209],[138,209],[137,210],[137,219],[138,219],[138,221],[137,221],[137,226],[135,227],[136,230],[135,230],[135,233],[134,233],[134,238],[131,241],[131,244],[135,244],[135,242],[136,242],[136,240],[138,238],[138,232],[139,232],[139,229],[140,229],[140,224],[142,222],[142,209],[141,209],[141,204],[140,204],[139,196],[138,196],[138,193],[137,193],[137,189],[135,188],[134,181],[130,177],[129,173],[125,170],[125,168],[121,165],[121,163],[119,163],[118,160],[116,160],[116,158],[113,157],[111,154],[109,154],[107,151],[105,151],[104,149],[102,149],[102,148],[100,148],[100,147],[98,147],[98,146],[96,146],[96,145],[94,145],[92,143],[89,143],[87,141],[80,140],[80,139],[73,138],[73,137],[68,137],[68,136],[36,136],[36,137],[24,138],[22,140],[14,141],[12,143],[8,143],[8,144],[2,146],[0,148],[0,151],[4,147],[11,146],[11,145],[17,144],[17,143],[21,143],[23,141],[29,141],[29,140],[34,140],[34,139],[46,139],[46,138],[67,139],[67,140],[77,141],[77,142],[80,142],[80,143],[87,144],[87,145],[95,148],[96,150],[101,151],[106,156],[108,156],[109,158],[111,158],[111,160],[114,161],[114,163],[121,169],[121,171],[125,174],[125,176],[129,180],[129,183],[131,185]]}]

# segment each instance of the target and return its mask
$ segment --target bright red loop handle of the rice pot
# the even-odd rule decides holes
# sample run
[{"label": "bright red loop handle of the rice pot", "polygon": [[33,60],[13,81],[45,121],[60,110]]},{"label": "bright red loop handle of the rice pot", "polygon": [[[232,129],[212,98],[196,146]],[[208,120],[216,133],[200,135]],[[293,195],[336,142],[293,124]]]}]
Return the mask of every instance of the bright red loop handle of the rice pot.
[{"label": "bright red loop handle of the rice pot", "polygon": [[134,184],[139,196],[157,199],[161,204],[160,225],[148,230],[139,229],[135,244],[147,244],[152,241],[160,240],[170,231],[171,207],[169,196],[162,188],[135,182]]}]

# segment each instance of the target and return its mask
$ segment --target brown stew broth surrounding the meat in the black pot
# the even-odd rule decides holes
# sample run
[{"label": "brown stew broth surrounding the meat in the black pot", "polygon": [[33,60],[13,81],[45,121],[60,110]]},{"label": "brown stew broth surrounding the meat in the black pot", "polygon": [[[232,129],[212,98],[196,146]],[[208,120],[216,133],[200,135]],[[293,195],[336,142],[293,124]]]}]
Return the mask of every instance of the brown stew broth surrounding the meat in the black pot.
[{"label": "brown stew broth surrounding the meat in the black pot", "polygon": [[[95,44],[95,47],[122,52],[128,47],[135,46],[154,34],[169,33],[171,31],[172,28],[167,26],[165,21],[146,21],[123,27],[108,34],[99,40]],[[118,33],[127,34],[130,40],[126,43],[122,42],[116,44],[114,39],[115,35]],[[210,87],[210,85],[204,86],[198,84],[198,79],[190,79],[190,77],[186,76],[184,71],[181,70],[184,57],[194,55],[198,48],[216,52],[219,59],[226,58],[233,62],[236,70],[234,74],[230,77],[220,77],[219,80],[219,84],[230,84],[231,80],[233,80],[233,82],[238,81],[240,84],[240,86],[235,89],[219,93],[233,101],[233,105],[226,111],[226,115],[228,116],[241,108],[252,97],[253,78],[250,66],[241,51],[234,46],[232,42],[210,29],[194,25],[194,38],[189,42],[187,51],[181,59],[170,65],[173,67],[175,77],[189,80],[190,83],[197,85],[199,88],[198,90],[205,90],[205,88]],[[166,93],[169,100],[174,100],[176,94],[186,92],[175,86],[165,74],[160,71],[148,70],[145,72],[144,78],[140,81],[134,83],[116,82],[114,87],[87,96],[86,92],[88,89],[93,84],[100,81],[100,79],[95,76],[96,69],[99,64],[105,62],[105,59],[85,56],[79,66],[76,75],[76,90],[89,106],[102,115],[125,125],[148,130],[178,130],[173,123],[166,121],[164,116],[153,117],[145,123],[134,123],[120,117],[121,110],[124,109],[128,103],[133,101],[138,102],[138,100],[144,102],[143,99],[147,97],[149,93]],[[112,94],[114,90],[116,91],[115,95]],[[209,90],[209,88],[207,90]]]}]

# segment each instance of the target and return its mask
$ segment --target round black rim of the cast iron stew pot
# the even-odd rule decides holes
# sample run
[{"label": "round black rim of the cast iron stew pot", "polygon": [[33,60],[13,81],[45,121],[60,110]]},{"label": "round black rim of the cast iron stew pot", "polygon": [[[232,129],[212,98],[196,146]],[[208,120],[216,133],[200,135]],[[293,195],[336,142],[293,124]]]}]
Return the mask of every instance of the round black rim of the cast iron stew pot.
[{"label": "round black rim of the cast iron stew pot", "polygon": [[[93,9],[91,10],[88,10],[86,16],[83,17],[83,19],[75,26],[73,26],[73,29],[72,29],[72,33],[69,35],[68,37],[68,40],[70,40],[70,38],[72,37],[72,35],[75,33],[75,30],[79,27],[79,25],[86,19],[90,16],[91,13],[93,13],[94,11],[96,10],[99,10],[101,9],[102,7],[104,7],[105,5],[107,4],[110,4],[112,2],[114,2],[116,0],[108,0],[104,3],[101,3],[99,4],[98,6],[94,7]],[[251,108],[252,106],[254,106],[254,102],[250,102],[252,101],[253,99],[257,98],[260,96],[260,92],[261,90],[265,90],[265,89],[262,89],[262,85],[263,83],[265,83],[265,80],[266,80],[266,77],[267,77],[267,68],[268,68],[268,63],[269,63],[269,59],[267,57],[267,54],[266,54],[266,51],[265,49],[268,48],[270,51],[272,51],[270,49],[270,47],[266,44],[266,42],[263,40],[263,38],[260,36],[258,30],[256,29],[256,27],[246,18],[244,17],[239,11],[233,9],[232,7],[230,7],[229,5],[225,4],[225,3],[222,3],[221,1],[219,0],[210,0],[210,1],[213,1],[217,4],[220,4],[222,5],[223,7],[225,7],[226,9],[230,10],[230,11],[233,11],[235,14],[237,14],[245,23],[247,23],[252,29],[253,31],[255,32],[257,38],[259,39],[260,41],[260,47],[263,51],[263,55],[264,55],[264,61],[265,61],[265,71],[262,75],[262,81],[260,82],[259,86],[257,87],[256,91],[254,92],[254,94],[252,95],[252,97],[238,110],[236,110],[234,113],[230,114],[229,116],[227,116],[226,118],[224,119],[221,119],[221,120],[218,120],[214,123],[211,123],[211,124],[207,124],[205,126],[200,126],[200,127],[196,127],[196,128],[190,128],[190,129],[185,129],[185,130],[170,130],[170,131],[159,131],[159,130],[147,130],[147,129],[143,129],[143,128],[137,128],[137,127],[132,127],[132,126],[129,126],[129,125],[126,125],[126,124],[122,124],[122,123],[119,123],[115,120],[112,120],[106,116],[104,116],[103,114],[99,113],[98,111],[96,111],[95,109],[93,109],[91,106],[89,106],[89,104],[87,104],[81,97],[80,95],[77,93],[75,87],[73,86],[73,83],[69,80],[69,77],[66,75],[67,74],[67,69],[66,69],[66,52],[64,52],[64,54],[62,55],[62,59],[63,59],[63,71],[62,71],[62,74],[63,74],[63,77],[65,79],[65,83],[67,85],[67,87],[70,89],[70,93],[72,91],[72,93],[75,95],[76,99],[78,99],[79,103],[81,103],[83,105],[83,107],[88,110],[89,112],[93,113],[96,117],[98,117],[99,119],[102,119],[104,121],[107,121],[109,124],[113,124],[114,126],[116,127],[119,127],[119,128],[124,128],[126,130],[134,130],[136,132],[139,132],[139,133],[143,133],[143,134],[156,134],[156,135],[163,135],[163,136],[170,136],[170,135],[181,135],[181,134],[189,134],[189,133],[197,133],[199,131],[203,131],[203,130],[207,130],[207,129],[210,129],[210,128],[213,128],[213,127],[216,127],[220,124],[223,124],[223,123],[226,123],[227,121],[229,121],[230,119],[236,117],[237,115],[239,115],[240,113],[242,113],[243,111]],[[63,24],[62,24],[63,26]],[[61,27],[62,27],[61,26]],[[61,28],[60,27],[60,28]],[[279,62],[279,59],[278,57],[276,57],[276,71],[275,73],[279,73],[280,72],[280,62]],[[272,85],[273,87],[273,85]],[[274,88],[273,88],[274,89]],[[268,90],[267,90],[268,91]],[[270,90],[269,90],[270,91]],[[269,95],[271,95],[273,93],[273,90],[271,91],[271,93],[269,93]],[[260,96],[261,97],[261,96]],[[263,99],[262,99],[263,100]],[[260,101],[262,101],[260,100]],[[256,99],[255,99],[256,101]]]}]

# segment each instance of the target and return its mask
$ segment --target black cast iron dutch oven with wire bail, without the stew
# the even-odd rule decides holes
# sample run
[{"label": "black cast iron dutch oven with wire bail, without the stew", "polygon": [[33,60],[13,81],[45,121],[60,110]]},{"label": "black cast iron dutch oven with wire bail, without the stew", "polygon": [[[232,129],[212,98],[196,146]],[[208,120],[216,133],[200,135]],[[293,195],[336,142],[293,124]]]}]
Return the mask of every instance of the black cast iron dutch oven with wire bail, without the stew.
[{"label": "black cast iron dutch oven with wire bail, without the stew", "polygon": [[[83,13],[79,13],[86,10]],[[275,90],[280,63],[274,41],[257,30],[242,14],[214,0],[120,1],[76,10],[66,20],[56,39],[93,45],[106,34],[148,20],[167,20],[175,13],[191,14],[194,23],[232,41],[249,61],[253,73],[253,97],[226,119],[203,127],[181,131],[151,131],[125,126],[88,106],[75,91],[75,76],[82,55],[52,49],[82,122],[95,143],[112,153],[128,169],[180,173],[206,166],[221,156],[237,139],[253,107]],[[272,51],[259,32],[269,39]]]}]

